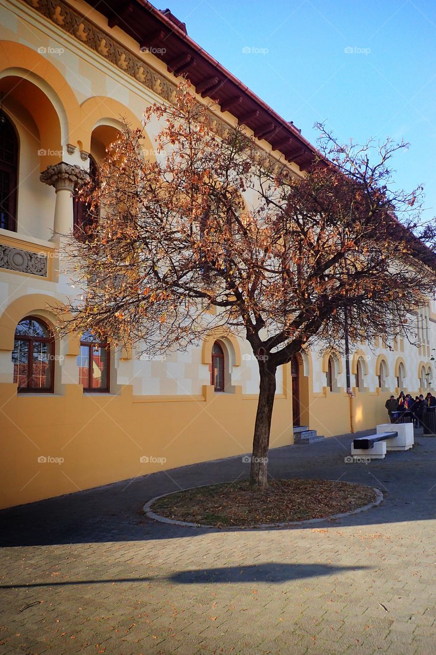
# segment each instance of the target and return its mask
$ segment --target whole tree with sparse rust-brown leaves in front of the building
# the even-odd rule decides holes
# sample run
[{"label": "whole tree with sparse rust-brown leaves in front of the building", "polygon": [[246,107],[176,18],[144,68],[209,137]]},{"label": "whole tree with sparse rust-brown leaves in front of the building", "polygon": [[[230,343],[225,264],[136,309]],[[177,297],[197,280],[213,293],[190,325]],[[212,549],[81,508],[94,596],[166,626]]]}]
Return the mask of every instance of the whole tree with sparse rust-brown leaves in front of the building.
[{"label": "whole tree with sparse rust-brown leaves in front of the building", "polygon": [[411,331],[433,291],[435,256],[409,231],[418,191],[390,190],[390,159],[405,144],[381,144],[372,163],[374,144],[340,145],[319,126],[321,153],[299,177],[244,126],[219,138],[188,83],[152,116],[158,161],[126,126],[87,198],[100,219],[71,239],[81,295],[62,329],[147,352],[187,348],[217,327],[244,336],[260,375],[251,483],[266,487],[278,367],[316,340],[342,350],[344,312],[356,341]]}]

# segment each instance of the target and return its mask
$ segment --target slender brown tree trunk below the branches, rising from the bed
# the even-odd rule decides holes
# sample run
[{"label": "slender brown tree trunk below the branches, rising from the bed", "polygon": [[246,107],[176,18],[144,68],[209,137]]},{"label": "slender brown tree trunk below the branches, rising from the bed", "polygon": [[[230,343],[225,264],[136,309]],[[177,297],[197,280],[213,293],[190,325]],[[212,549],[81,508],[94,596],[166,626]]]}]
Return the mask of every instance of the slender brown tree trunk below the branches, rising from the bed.
[{"label": "slender brown tree trunk below the branches, rising from the bed", "polygon": [[253,438],[253,456],[251,457],[250,484],[253,487],[268,487],[268,448],[274,394],[276,392],[276,368],[268,367],[268,362],[259,360],[259,401]]}]

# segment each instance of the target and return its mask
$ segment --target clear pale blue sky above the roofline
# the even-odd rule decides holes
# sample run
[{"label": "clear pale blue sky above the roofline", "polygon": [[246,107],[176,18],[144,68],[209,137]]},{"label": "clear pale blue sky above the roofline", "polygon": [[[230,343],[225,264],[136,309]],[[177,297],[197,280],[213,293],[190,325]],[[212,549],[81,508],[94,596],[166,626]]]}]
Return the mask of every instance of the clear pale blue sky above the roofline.
[{"label": "clear pale blue sky above the roofline", "polygon": [[409,141],[393,162],[396,187],[424,183],[424,216],[436,215],[434,0],[168,0],[166,6],[194,41],[312,143],[315,121],[326,121],[339,140]]}]

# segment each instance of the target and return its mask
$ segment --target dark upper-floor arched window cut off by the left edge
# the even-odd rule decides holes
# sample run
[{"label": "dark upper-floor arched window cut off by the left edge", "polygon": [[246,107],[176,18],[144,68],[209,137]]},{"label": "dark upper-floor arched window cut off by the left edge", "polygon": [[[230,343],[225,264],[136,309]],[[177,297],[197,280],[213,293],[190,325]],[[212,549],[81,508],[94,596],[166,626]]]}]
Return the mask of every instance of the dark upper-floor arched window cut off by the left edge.
[{"label": "dark upper-floor arched window cut off by the left edge", "polygon": [[0,227],[16,230],[18,139],[14,126],[0,110]]}]

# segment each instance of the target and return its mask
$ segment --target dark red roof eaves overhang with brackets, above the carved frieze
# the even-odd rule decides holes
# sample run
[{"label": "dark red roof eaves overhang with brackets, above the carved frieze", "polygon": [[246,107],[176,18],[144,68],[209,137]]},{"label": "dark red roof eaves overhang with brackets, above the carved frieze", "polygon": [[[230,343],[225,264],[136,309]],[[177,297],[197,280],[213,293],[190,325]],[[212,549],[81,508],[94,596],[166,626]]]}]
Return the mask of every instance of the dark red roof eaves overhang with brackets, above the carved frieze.
[{"label": "dark red roof eaves overhang with brackets, above the carved frieze", "polygon": [[109,28],[117,26],[134,39],[138,48],[153,52],[175,77],[186,75],[196,92],[211,98],[221,111],[246,124],[259,140],[270,143],[288,162],[302,170],[319,155],[292,121],[285,121],[251,89],[219,64],[187,34],[185,25],[169,10],[159,10],[148,0],[86,0],[107,18]]}]

